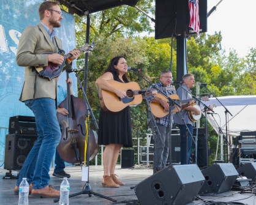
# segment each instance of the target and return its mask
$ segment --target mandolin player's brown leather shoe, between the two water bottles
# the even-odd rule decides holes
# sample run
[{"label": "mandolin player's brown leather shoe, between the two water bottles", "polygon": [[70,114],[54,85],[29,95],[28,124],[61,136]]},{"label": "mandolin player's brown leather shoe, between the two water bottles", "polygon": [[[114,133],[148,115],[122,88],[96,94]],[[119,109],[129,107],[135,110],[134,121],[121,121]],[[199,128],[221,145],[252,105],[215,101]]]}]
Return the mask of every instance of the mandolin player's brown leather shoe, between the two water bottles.
[{"label": "mandolin player's brown leather shoe, between the two water bottles", "polygon": [[54,189],[51,185],[40,189],[32,189],[31,191],[32,198],[58,198],[59,196],[59,191]]}]

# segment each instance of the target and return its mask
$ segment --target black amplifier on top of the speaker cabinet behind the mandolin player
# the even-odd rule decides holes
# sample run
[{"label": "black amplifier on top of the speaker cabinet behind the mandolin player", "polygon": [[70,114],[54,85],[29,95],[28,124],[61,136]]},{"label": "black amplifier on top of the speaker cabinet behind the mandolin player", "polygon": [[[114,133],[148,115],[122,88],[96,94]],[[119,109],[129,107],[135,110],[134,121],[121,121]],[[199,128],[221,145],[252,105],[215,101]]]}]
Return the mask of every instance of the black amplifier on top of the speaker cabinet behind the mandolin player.
[{"label": "black amplifier on top of the speaker cabinet behind the mandolin player", "polygon": [[35,117],[20,115],[10,117],[9,134],[37,135]]}]

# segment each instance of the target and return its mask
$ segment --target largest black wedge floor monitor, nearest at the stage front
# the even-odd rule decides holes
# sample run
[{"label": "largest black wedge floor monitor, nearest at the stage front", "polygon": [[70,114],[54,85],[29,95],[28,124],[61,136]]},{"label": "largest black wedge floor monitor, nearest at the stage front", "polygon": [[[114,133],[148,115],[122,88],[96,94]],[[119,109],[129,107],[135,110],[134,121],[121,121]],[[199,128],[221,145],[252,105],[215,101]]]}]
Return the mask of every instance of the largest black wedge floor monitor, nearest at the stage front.
[{"label": "largest black wedge floor monitor, nearest at the stage front", "polygon": [[197,165],[170,165],[134,187],[141,205],[187,204],[199,192],[205,178]]}]

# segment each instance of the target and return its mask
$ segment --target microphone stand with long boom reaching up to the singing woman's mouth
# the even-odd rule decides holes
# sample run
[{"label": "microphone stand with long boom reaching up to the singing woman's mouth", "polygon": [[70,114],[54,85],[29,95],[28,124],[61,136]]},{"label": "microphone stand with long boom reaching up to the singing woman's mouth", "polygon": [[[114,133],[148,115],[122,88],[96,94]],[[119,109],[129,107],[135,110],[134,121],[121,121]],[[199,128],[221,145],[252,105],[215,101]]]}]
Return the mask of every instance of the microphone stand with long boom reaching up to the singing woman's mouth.
[{"label": "microphone stand with long boom reaching up to the singing woman's mouth", "polygon": [[[168,99],[168,104],[169,104],[169,140],[170,140],[170,148],[169,148],[169,160],[170,160],[170,165],[171,165],[171,105],[176,105],[178,106],[179,108],[181,108],[181,106],[175,102],[175,100],[171,99],[168,95],[165,95],[164,92],[160,91],[160,89],[158,89],[156,86],[154,86],[154,84],[152,84],[150,81],[146,80],[146,78],[144,78],[144,76],[140,75],[136,70],[133,70],[134,73],[137,75],[137,76],[140,76],[140,78],[142,78],[143,80],[145,80],[149,85],[152,86],[152,88],[156,89],[160,94],[164,95],[164,97],[166,99]],[[146,99],[146,98],[145,98]],[[146,100],[147,102],[147,100]],[[149,103],[147,102],[147,105],[148,105],[148,108],[150,109],[150,106],[149,106]],[[150,110],[151,111],[151,110]],[[151,112],[152,114],[152,112]],[[154,119],[154,116],[152,114],[151,116],[152,119]],[[156,125],[156,122],[154,122],[154,126],[157,127]],[[158,128],[157,128],[158,130]],[[159,133],[159,136],[160,136],[160,133]],[[160,138],[161,139],[161,138]],[[162,140],[162,139],[161,139]]]}]

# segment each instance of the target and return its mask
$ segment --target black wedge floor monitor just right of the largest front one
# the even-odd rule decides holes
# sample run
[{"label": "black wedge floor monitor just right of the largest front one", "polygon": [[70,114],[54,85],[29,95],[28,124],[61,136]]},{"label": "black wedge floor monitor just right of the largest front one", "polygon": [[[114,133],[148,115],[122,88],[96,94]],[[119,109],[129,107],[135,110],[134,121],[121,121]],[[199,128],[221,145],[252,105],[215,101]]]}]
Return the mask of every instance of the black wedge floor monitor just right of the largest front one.
[{"label": "black wedge floor monitor just right of the largest front one", "polygon": [[232,163],[216,163],[201,173],[205,176],[205,182],[200,193],[228,192],[238,177],[238,172]]}]

